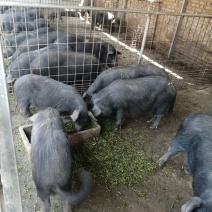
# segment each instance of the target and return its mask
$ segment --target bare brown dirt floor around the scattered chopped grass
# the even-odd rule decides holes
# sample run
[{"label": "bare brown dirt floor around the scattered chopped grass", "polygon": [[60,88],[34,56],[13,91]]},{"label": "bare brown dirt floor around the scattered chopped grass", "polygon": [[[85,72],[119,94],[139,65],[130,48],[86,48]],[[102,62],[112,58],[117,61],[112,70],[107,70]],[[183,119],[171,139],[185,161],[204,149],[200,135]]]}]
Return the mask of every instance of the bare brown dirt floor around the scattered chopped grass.
[{"label": "bare brown dirt floor around the scattered chopped grass", "polygon": [[[14,135],[16,138],[16,152],[20,177],[23,211],[39,211],[40,200],[37,198],[34,183],[31,177],[31,163],[20,139],[18,127],[26,124],[18,111],[12,108]],[[143,150],[154,161],[167,150],[182,119],[192,112],[212,114],[212,85],[204,88],[186,86],[178,90],[174,114],[165,116],[159,128],[149,129],[146,120],[149,115],[137,116],[129,114],[123,129],[140,129],[146,134]],[[81,203],[73,207],[73,211],[92,212],[177,212],[180,207],[192,196],[191,178],[182,170],[184,156],[178,154],[172,157],[164,168],[157,169],[138,187],[143,195],[138,195],[133,189],[121,186],[115,190],[108,190],[104,186],[94,184],[92,192]],[[52,211],[60,212],[61,203],[56,196],[52,198]]]}]

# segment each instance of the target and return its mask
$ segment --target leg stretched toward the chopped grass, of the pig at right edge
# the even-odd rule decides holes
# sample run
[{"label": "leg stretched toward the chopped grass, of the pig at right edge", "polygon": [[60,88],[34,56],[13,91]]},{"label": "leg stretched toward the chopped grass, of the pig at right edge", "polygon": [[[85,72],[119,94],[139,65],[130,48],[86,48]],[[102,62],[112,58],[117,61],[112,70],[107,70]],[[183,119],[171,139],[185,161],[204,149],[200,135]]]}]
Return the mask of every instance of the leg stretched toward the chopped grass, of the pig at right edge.
[{"label": "leg stretched toward the chopped grass, of the pig at right edge", "polygon": [[175,139],[174,142],[169,146],[168,151],[159,159],[159,166],[163,166],[164,163],[172,156],[178,152],[184,152],[184,148],[179,145],[177,140]]}]

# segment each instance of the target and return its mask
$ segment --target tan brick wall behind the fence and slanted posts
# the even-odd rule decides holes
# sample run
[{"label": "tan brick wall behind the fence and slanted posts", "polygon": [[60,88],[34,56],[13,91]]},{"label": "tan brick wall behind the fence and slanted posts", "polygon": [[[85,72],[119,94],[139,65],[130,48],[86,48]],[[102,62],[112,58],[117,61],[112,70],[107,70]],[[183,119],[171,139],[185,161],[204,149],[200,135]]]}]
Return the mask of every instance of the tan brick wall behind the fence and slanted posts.
[{"label": "tan brick wall behind the fence and slanted posts", "polygon": [[[161,3],[151,3],[145,0],[96,0],[95,6],[106,8],[124,8],[150,11],[163,11],[178,13],[181,10],[183,0],[162,0]],[[211,14],[212,0],[188,0],[185,13]],[[139,48],[146,23],[146,15],[140,13],[118,13],[126,27],[126,38],[137,40],[135,47]],[[124,17],[124,19],[122,18]],[[157,20],[157,22],[156,22]],[[156,50],[168,55],[170,44],[176,29],[178,16],[153,15],[147,36],[146,47],[151,45]],[[182,62],[193,63],[206,62],[211,66],[212,61],[212,19],[199,17],[185,17],[176,39],[176,45],[172,57],[178,57]],[[186,57],[186,59],[185,59]],[[188,59],[189,58],[189,59]]]}]

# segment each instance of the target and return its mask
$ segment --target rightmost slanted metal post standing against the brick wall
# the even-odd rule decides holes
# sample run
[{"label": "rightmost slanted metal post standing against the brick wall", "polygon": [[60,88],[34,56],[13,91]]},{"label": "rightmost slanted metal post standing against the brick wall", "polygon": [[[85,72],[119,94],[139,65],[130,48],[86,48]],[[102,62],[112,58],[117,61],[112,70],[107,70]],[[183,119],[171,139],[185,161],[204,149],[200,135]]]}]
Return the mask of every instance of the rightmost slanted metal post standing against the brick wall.
[{"label": "rightmost slanted metal post standing against the brick wall", "polygon": [[[188,4],[188,0],[184,0],[182,7],[181,7],[181,10],[180,10],[181,14],[185,12],[187,4]],[[176,26],[176,29],[175,29],[175,32],[174,32],[174,36],[172,38],[171,46],[170,46],[169,53],[168,53],[168,59],[170,58],[170,56],[171,56],[171,54],[174,50],[174,47],[176,45],[176,40],[177,40],[177,37],[179,35],[179,31],[180,31],[180,28],[181,28],[181,25],[182,25],[182,21],[183,21],[183,16],[180,16],[178,18],[178,21],[177,21],[177,26]]]}]

